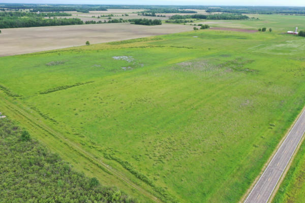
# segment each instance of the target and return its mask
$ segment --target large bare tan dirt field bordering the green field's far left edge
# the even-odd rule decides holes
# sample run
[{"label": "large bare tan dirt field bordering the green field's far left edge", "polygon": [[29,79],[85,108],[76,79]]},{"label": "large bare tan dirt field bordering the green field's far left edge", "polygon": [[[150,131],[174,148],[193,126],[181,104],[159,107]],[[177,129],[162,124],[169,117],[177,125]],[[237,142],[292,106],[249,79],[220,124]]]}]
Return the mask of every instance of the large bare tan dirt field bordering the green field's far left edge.
[{"label": "large bare tan dirt field bordering the green field's far left edge", "polygon": [[156,26],[130,23],[68,25],[2,29],[0,56],[33,53],[52,49],[128,40],[190,31],[193,26],[163,24]]}]

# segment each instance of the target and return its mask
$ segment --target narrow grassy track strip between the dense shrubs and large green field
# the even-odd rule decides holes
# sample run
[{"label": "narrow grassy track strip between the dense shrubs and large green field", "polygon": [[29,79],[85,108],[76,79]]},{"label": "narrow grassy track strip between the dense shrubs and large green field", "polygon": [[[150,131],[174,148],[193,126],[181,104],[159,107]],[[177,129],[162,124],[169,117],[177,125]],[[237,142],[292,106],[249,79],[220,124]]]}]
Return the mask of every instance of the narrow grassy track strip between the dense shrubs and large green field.
[{"label": "narrow grassy track strip between the dense shrubs and large green field", "polygon": [[[151,194],[150,192],[148,192],[147,190],[141,188],[140,186],[138,186],[136,183],[133,183],[132,181],[128,180],[127,177],[125,177],[123,174],[120,174],[119,172],[117,172],[116,170],[114,170],[113,168],[109,168],[108,164],[102,162],[101,160],[98,160],[97,158],[94,157],[94,155],[90,154],[89,152],[85,151],[84,149],[81,149],[79,146],[77,146],[74,142],[70,141],[69,139],[66,139],[61,133],[55,131],[54,129],[52,129],[51,127],[49,127],[48,125],[46,125],[43,122],[40,122],[39,124],[36,123],[35,121],[33,121],[33,118],[31,118],[31,115],[28,115],[29,113],[27,113],[24,109],[22,109],[21,107],[11,103],[7,98],[5,97],[1,97],[2,101],[4,101],[6,103],[6,105],[8,106],[8,109],[11,109],[12,111],[14,111],[16,114],[19,114],[20,116],[24,117],[27,121],[33,123],[34,125],[36,125],[37,127],[40,127],[42,130],[46,131],[47,133],[49,133],[52,136],[52,133],[55,133],[55,135],[63,142],[63,144],[67,145],[67,147],[69,148],[74,148],[72,150],[79,150],[79,153],[83,153],[83,157],[85,159],[88,159],[89,162],[96,162],[97,164],[100,164],[102,167],[104,167],[108,172],[111,173],[111,175],[115,176],[116,178],[120,179],[121,181],[127,183],[128,185],[130,185],[132,188],[137,189],[141,194],[144,194],[145,196],[147,196],[148,198],[150,198],[151,200],[153,200],[154,202],[158,202],[161,203],[163,202],[161,199],[159,199],[158,197],[156,197],[154,194]],[[18,102],[18,104],[20,105],[20,103]],[[21,104],[21,106],[23,107],[23,105]],[[22,115],[20,114],[20,112]],[[34,119],[35,120],[35,119]],[[41,126],[42,125],[42,126]],[[39,140],[39,138],[38,138]],[[90,160],[91,159],[91,160]],[[93,163],[95,164],[95,163]],[[101,169],[102,170],[102,169]],[[103,170],[104,171],[104,170]],[[107,172],[106,172],[107,173]],[[110,175],[110,174],[109,174]]]}]

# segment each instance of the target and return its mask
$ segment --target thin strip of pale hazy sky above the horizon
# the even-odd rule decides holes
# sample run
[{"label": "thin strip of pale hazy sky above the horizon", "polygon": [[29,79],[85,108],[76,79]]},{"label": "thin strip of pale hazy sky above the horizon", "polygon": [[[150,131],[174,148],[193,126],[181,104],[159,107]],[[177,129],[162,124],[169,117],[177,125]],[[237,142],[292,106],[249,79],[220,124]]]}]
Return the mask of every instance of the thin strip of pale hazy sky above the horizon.
[{"label": "thin strip of pale hazy sky above the horizon", "polygon": [[305,0],[0,0],[0,3],[48,4],[137,4],[137,5],[234,5],[234,6],[305,6]]}]

